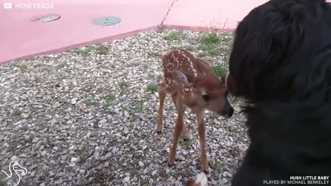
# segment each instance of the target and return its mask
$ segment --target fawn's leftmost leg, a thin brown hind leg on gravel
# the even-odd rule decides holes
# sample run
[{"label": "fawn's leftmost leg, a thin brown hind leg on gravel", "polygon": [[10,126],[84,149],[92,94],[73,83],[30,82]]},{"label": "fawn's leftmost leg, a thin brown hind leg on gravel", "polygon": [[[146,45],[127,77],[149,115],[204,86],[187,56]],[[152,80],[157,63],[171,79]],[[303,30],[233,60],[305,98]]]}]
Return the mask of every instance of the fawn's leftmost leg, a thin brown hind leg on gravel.
[{"label": "fawn's leftmost leg, a thin brown hind leg on gravel", "polygon": [[165,81],[159,87],[159,111],[157,112],[157,133],[161,134],[163,129],[163,105],[166,92]]}]

